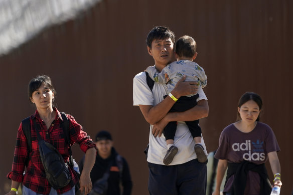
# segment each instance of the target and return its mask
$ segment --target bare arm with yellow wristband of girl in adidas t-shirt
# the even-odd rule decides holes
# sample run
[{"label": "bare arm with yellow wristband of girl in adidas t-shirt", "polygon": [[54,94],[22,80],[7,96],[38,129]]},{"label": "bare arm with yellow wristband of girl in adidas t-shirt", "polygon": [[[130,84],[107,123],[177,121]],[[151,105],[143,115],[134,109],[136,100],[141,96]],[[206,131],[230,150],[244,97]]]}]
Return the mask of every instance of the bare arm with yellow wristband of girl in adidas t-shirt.
[{"label": "bare arm with yellow wristband of girl in adidas t-shirt", "polygon": [[[281,166],[280,166],[280,162],[279,162],[279,158],[277,155],[276,151],[273,152],[269,152],[267,153],[268,156],[268,160],[269,160],[269,164],[271,167],[271,171],[272,174],[274,174],[274,181],[273,181],[273,185],[278,185],[281,186],[282,182],[281,182]],[[279,173],[279,174],[276,174]]]}]

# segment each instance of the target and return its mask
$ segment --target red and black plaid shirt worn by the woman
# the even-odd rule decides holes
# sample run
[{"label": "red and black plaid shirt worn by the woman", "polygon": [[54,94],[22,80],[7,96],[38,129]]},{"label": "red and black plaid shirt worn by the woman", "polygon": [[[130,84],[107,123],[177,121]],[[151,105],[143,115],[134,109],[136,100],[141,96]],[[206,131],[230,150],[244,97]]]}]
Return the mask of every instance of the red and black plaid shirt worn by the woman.
[{"label": "red and black plaid shirt worn by the woman", "polygon": [[[23,132],[22,123],[20,124],[17,134],[12,171],[7,175],[9,179],[23,182],[23,185],[41,194],[49,194],[51,186],[46,179],[44,166],[41,161],[37,133],[34,128],[34,118],[36,118],[37,124],[39,124],[39,126],[41,127],[41,137],[45,141],[53,144],[58,149],[60,154],[64,157],[65,161],[69,160],[69,148],[65,141],[63,129],[60,126],[62,116],[56,108],[53,109],[57,112],[57,114],[55,120],[52,122],[48,130],[45,122],[40,118],[38,111],[36,111],[35,114],[31,116],[31,153],[29,153],[28,151],[28,143],[26,136]],[[75,121],[73,116],[67,114],[67,117],[69,119],[71,145],[74,143],[78,143],[80,145],[80,149],[83,152],[86,152],[86,150],[89,148],[95,148],[95,143],[90,139],[86,132],[83,131],[82,126]],[[26,166],[26,173],[23,174],[25,170],[26,159],[28,159],[29,161],[28,165]],[[58,194],[62,194],[70,190],[78,182],[77,175],[74,173],[73,170],[70,169],[70,171],[72,176],[71,182],[67,186],[57,189]]]}]

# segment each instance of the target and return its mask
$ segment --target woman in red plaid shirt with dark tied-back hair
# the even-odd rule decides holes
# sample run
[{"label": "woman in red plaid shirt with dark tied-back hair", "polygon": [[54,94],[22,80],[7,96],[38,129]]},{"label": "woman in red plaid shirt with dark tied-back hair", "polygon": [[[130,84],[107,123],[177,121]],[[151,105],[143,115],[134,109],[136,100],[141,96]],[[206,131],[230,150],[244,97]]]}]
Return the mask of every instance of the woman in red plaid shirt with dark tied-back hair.
[{"label": "woman in red plaid shirt with dark tied-back hair", "polygon": [[[97,151],[95,143],[86,132],[83,131],[82,126],[75,121],[73,116],[67,114],[71,144],[78,143],[81,150],[85,152],[85,165],[79,181],[75,171],[69,168],[72,177],[70,183],[60,189],[51,187],[45,176],[33,120],[36,120],[36,123],[39,124],[38,126],[41,127],[40,134],[42,139],[54,145],[63,156],[64,160],[68,161],[69,150],[65,141],[63,129],[60,126],[62,116],[52,104],[55,99],[56,91],[50,77],[42,75],[32,79],[29,83],[28,90],[30,101],[37,107],[35,114],[30,117],[32,150],[28,150],[28,142],[21,123],[17,134],[12,171],[7,175],[7,177],[12,180],[12,188],[7,194],[17,194],[17,189],[21,182],[23,183],[23,195],[71,195],[75,194],[74,185],[77,182],[80,183],[80,190],[82,193],[89,193],[92,188],[90,171],[95,163]],[[23,174],[25,167],[26,172]]]}]

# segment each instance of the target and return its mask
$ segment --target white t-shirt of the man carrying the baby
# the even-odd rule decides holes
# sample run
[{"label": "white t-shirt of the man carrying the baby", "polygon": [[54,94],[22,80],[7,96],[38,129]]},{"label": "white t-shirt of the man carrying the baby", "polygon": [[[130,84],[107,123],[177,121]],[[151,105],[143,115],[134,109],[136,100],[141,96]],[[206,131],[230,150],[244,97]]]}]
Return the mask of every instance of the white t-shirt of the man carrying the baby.
[{"label": "white t-shirt of the man carrying the baby", "polygon": [[[207,97],[200,87],[197,91],[199,98],[197,101],[205,99]],[[167,95],[167,85],[155,83],[153,90],[149,88],[147,84],[147,75],[145,72],[141,72],[133,78],[133,105],[152,105],[159,104],[164,99],[164,95]],[[150,147],[148,152],[148,162],[155,164],[162,164],[164,156],[167,152],[167,143],[164,134],[161,137],[154,137],[152,134],[152,127],[150,127]],[[173,161],[169,165],[182,164],[192,159],[197,158],[194,145],[195,141],[188,129],[188,126],[183,121],[178,121],[177,130],[174,138],[174,145],[178,147],[178,153],[175,155]],[[205,148],[207,154],[204,139],[202,137],[202,145]]]}]

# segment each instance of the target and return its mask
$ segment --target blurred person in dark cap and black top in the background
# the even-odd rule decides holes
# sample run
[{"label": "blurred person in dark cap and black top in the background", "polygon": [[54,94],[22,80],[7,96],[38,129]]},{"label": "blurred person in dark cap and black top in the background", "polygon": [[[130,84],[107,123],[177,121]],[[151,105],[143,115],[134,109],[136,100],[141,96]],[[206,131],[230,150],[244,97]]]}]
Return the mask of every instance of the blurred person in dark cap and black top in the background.
[{"label": "blurred person in dark cap and black top in the background", "polygon": [[[132,181],[128,164],[113,147],[112,136],[107,131],[100,131],[96,135],[96,146],[98,154],[94,167],[91,170],[90,177],[93,183],[93,189],[90,194],[105,195],[130,195]],[[80,162],[82,172],[84,157]],[[122,193],[120,193],[120,184]]]}]

